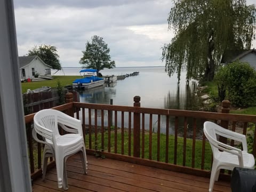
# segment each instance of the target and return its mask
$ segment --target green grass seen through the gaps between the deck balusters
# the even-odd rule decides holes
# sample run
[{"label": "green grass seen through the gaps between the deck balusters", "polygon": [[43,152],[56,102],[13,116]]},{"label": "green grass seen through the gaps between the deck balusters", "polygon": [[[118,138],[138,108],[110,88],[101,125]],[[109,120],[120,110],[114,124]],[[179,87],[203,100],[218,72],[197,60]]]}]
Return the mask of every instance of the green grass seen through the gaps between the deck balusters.
[{"label": "green grass seen through the gaps between the deck balusters", "polygon": [[[101,134],[98,133],[98,140],[95,143],[94,142],[94,134],[92,134],[92,149],[95,149],[95,145],[97,146],[97,149],[100,151],[101,149]],[[105,132],[104,134],[104,149],[105,151],[108,151],[108,133]],[[166,135],[161,134],[160,135],[160,153],[159,153],[159,161],[165,162],[165,139]],[[115,153],[114,148],[114,141],[115,141],[115,134],[114,132],[111,132],[111,153]],[[117,153],[121,154],[121,133],[117,133]],[[129,140],[128,140],[128,132],[124,132],[124,155],[128,155],[128,146]],[[85,135],[85,145],[86,148],[89,148],[89,135]],[[193,140],[187,139],[187,148],[186,148],[186,166],[191,167],[192,163],[192,146],[193,146]],[[131,156],[133,155],[133,138],[131,138]],[[142,154],[142,153],[141,153]],[[149,134],[145,134],[145,159],[149,158]],[[195,168],[201,169],[201,162],[202,162],[202,140],[196,140],[195,144]],[[152,159],[157,161],[157,134],[152,134]],[[205,145],[205,164],[204,169],[210,170],[211,169],[211,161],[212,161],[212,150],[208,142],[206,142]],[[174,136],[169,135],[169,163],[174,163]],[[178,138],[178,148],[177,148],[177,164],[182,165],[183,164],[183,138]]]}]

